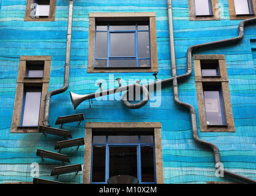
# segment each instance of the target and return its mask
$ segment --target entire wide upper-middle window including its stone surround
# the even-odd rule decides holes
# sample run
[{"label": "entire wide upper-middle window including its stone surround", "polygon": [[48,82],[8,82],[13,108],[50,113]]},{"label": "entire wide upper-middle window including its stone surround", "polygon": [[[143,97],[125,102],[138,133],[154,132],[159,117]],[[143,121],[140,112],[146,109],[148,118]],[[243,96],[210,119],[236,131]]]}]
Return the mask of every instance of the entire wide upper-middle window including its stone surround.
[{"label": "entire wide upper-middle window including its stone surround", "polygon": [[155,13],[90,13],[87,72],[158,72]]}]

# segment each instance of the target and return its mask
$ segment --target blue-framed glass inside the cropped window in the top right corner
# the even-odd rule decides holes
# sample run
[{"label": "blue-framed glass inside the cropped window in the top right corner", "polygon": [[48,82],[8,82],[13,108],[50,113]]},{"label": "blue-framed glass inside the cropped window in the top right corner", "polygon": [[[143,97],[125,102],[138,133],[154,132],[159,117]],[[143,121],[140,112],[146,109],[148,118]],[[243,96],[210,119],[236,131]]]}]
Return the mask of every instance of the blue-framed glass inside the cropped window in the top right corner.
[{"label": "blue-framed glass inside the cropped window in the top right corner", "polygon": [[251,0],[234,0],[236,15],[254,15]]}]

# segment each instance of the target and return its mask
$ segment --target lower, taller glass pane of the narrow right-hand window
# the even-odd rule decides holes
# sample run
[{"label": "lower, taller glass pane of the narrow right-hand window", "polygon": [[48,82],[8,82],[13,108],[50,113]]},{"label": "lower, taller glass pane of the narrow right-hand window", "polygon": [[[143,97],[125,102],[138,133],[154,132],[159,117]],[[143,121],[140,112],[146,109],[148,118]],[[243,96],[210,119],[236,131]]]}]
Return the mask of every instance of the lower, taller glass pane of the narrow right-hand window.
[{"label": "lower, taller glass pane of the narrow right-hand window", "polygon": [[204,91],[207,125],[223,125],[219,91]]}]

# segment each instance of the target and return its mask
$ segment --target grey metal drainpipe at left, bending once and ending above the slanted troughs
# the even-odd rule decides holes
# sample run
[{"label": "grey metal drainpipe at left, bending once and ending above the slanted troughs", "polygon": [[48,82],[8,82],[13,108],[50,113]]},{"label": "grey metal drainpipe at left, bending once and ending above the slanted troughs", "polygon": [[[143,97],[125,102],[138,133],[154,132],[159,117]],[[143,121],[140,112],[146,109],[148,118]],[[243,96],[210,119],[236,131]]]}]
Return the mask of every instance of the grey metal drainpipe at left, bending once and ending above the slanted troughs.
[{"label": "grey metal drainpipe at left, bending once and ending above the slanted troughs", "polygon": [[60,94],[68,89],[69,77],[70,77],[70,52],[71,52],[71,37],[72,37],[72,21],[73,21],[73,0],[69,1],[68,6],[68,30],[66,34],[66,57],[65,57],[65,73],[64,73],[64,83],[62,88],[55,89],[46,94],[45,104],[44,104],[44,126],[49,126],[49,110],[50,110],[50,97],[55,94]]}]

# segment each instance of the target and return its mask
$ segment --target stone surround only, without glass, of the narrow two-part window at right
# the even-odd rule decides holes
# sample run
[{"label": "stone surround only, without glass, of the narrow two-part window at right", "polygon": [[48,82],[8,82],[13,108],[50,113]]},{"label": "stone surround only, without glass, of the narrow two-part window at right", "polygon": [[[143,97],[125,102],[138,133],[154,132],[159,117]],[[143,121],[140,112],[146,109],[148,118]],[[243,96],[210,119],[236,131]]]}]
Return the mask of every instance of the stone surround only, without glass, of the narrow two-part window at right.
[{"label": "stone surround only, without glass, of the narrow two-part window at right", "polygon": [[[228,85],[228,73],[226,71],[225,55],[193,55],[194,58],[194,78],[196,83],[196,94],[198,99],[199,125],[201,132],[235,132],[234,118],[232,112],[230,88]],[[202,77],[201,60],[218,60],[219,77]],[[206,110],[204,107],[203,83],[221,84],[223,108],[225,112],[226,125],[209,126],[206,123]]]}]

